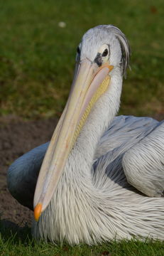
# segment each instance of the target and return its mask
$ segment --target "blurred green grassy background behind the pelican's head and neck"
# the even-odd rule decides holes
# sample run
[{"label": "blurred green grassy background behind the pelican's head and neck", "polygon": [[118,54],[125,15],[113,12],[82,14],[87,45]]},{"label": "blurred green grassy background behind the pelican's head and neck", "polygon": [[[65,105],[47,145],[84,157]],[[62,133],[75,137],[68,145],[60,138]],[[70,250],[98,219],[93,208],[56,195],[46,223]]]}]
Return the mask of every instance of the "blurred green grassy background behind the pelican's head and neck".
[{"label": "blurred green grassy background behind the pelican's head and neck", "polygon": [[60,117],[85,31],[113,24],[131,46],[119,114],[164,118],[163,0],[1,0],[0,116]]}]

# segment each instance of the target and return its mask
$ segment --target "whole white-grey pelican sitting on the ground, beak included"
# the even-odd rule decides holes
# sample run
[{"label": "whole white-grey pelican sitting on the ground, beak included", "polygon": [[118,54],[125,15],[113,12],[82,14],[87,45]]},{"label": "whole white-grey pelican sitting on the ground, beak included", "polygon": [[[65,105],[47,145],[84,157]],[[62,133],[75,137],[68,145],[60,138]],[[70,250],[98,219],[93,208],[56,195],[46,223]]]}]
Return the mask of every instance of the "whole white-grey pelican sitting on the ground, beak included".
[{"label": "whole white-grey pelican sitting on the ground, beak included", "polygon": [[50,143],[9,167],[9,191],[34,209],[35,238],[70,245],[164,239],[164,122],[116,117],[129,56],[119,28],[84,33]]}]

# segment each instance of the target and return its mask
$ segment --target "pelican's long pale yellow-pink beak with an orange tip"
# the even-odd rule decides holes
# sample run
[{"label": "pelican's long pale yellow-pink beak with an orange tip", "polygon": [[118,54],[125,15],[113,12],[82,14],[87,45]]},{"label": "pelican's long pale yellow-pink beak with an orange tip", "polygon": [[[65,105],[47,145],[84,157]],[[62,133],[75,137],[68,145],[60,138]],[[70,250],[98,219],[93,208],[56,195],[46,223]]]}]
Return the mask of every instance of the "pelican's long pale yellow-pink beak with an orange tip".
[{"label": "pelican's long pale yellow-pink beak with an orange tip", "polygon": [[55,129],[38,176],[33,203],[35,220],[39,219],[40,214],[50,203],[67,157],[94,102],[107,90],[110,82],[109,72],[113,68],[108,63],[98,67],[96,63],[87,59],[79,64],[65,110]]}]

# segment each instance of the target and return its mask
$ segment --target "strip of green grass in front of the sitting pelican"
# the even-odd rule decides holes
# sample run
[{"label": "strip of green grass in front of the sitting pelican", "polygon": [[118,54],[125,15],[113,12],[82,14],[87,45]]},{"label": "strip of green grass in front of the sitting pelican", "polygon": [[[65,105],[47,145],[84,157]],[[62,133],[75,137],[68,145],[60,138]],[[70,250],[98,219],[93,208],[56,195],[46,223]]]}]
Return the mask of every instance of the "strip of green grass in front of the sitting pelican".
[{"label": "strip of green grass in front of the sitting pelican", "polygon": [[36,242],[28,228],[18,233],[4,231],[0,235],[1,256],[163,256],[164,242],[133,239],[108,242],[102,245],[53,245],[50,242]]}]

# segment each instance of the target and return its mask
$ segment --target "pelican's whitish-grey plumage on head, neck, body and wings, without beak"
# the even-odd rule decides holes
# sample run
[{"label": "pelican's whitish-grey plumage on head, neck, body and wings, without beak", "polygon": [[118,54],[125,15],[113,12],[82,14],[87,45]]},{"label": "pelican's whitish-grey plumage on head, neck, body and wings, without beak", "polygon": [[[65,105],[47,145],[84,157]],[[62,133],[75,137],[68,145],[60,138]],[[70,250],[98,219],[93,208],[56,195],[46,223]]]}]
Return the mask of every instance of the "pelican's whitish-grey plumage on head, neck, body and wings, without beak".
[{"label": "pelican's whitish-grey plumage on head, neck, body and wings, without beak", "polygon": [[[164,122],[115,117],[129,63],[124,34],[114,26],[92,28],[82,38],[77,62],[97,61],[101,67],[104,59],[99,49],[104,45],[110,52],[105,61],[114,66],[109,88],[92,107],[50,203],[38,222],[33,221],[35,238],[70,244],[133,235],[164,239]],[[29,208],[32,196],[28,198],[28,193],[33,195],[47,146],[33,149],[9,168],[9,190]]]}]

